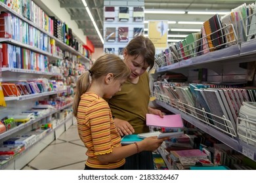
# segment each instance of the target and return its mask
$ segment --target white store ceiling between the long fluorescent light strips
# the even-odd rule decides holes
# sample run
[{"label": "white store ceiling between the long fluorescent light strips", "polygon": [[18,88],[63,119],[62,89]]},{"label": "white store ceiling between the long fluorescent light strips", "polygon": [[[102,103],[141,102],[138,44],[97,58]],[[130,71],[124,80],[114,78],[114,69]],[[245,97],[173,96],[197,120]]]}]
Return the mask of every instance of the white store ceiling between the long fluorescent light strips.
[{"label": "white store ceiling between the long fluorescent light strips", "polygon": [[[84,34],[93,42],[95,48],[102,48],[103,44],[95,31],[82,0],[58,0],[60,7],[66,8],[70,13],[72,20],[74,20]],[[120,0],[121,1],[121,0]],[[98,29],[103,36],[103,8],[104,0],[87,0],[87,5],[91,9],[91,13],[96,21]],[[226,11],[230,12],[232,8],[236,8],[243,3],[251,4],[255,1],[221,1],[221,0],[144,0],[145,10],[183,10],[183,11]],[[169,21],[183,21],[183,22],[205,22],[213,15],[198,15],[198,14],[145,14],[145,20],[169,20]],[[145,24],[145,28],[147,28]],[[191,24],[169,24],[169,29],[172,28],[190,28],[200,29],[202,25]],[[191,32],[190,32],[191,33]],[[184,35],[188,33],[169,31],[169,35]],[[170,37],[169,39],[181,39],[177,37]]]}]

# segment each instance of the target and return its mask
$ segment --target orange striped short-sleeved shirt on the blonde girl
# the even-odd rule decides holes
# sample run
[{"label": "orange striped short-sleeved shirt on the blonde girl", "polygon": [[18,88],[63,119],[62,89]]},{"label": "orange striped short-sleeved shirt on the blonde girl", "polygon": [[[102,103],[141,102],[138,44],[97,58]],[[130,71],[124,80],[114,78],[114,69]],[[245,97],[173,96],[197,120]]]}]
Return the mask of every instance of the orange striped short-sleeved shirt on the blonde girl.
[{"label": "orange striped short-sleeved shirt on the blonde girl", "polygon": [[114,147],[121,146],[121,137],[108,103],[96,93],[86,92],[81,95],[77,109],[77,129],[81,141],[87,148],[87,166],[96,169],[116,169],[124,165],[125,159],[102,163],[97,158],[97,155],[111,153]]}]

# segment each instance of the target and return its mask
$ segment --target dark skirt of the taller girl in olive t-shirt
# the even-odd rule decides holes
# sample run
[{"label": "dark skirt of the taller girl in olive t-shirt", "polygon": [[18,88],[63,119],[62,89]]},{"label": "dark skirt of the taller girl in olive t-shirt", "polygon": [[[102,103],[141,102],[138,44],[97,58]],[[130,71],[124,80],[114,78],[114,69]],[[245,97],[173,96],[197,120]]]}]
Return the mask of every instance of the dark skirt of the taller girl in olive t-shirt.
[{"label": "dark skirt of the taller girl in olive t-shirt", "polygon": [[152,152],[143,151],[125,158],[125,170],[154,170]]}]

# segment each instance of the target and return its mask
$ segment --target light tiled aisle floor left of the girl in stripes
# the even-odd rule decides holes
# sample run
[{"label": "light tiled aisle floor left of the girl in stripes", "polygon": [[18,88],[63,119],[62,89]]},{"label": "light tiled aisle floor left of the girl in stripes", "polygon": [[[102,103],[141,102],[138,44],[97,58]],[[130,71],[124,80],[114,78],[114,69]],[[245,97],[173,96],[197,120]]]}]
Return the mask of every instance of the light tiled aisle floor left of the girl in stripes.
[{"label": "light tiled aisle floor left of the girl in stripes", "polygon": [[53,141],[23,170],[83,170],[86,148],[79,139],[74,124]]}]

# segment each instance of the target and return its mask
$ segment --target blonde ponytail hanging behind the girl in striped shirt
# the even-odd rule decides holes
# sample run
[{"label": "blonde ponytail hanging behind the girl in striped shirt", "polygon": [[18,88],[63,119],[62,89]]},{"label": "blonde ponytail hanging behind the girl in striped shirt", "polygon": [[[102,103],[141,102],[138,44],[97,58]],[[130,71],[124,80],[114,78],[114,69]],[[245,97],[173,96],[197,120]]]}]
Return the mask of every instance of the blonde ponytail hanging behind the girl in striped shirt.
[{"label": "blonde ponytail hanging behind the girl in striped shirt", "polygon": [[73,114],[75,117],[77,117],[77,108],[80,102],[81,95],[87,91],[90,85],[89,80],[90,73],[89,71],[83,73],[83,75],[79,76],[77,82],[76,82],[76,92],[74,97],[74,103],[73,103]]}]

